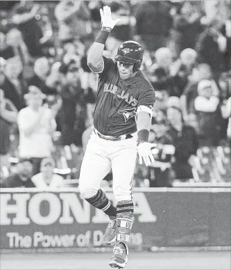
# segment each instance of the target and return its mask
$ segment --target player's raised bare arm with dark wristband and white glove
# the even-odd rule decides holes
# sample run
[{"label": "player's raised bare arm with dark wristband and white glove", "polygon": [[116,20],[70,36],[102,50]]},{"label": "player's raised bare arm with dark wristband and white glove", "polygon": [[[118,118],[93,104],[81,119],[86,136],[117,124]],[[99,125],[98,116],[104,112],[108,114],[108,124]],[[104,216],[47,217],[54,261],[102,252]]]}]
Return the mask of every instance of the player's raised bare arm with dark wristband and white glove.
[{"label": "player's raised bare arm with dark wristband and white glove", "polygon": [[104,6],[103,10],[100,9],[100,13],[102,29],[87,54],[87,65],[94,73],[100,73],[103,71],[103,49],[105,42],[110,34],[110,31],[119,21],[119,19],[112,19],[111,9],[108,6]]}]

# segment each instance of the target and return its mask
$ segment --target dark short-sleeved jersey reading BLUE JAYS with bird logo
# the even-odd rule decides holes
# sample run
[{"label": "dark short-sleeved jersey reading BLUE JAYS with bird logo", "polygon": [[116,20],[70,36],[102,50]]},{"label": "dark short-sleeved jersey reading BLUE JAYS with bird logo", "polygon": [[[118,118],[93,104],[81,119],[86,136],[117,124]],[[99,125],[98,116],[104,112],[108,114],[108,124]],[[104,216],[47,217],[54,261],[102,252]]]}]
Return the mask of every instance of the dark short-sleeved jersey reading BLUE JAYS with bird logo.
[{"label": "dark short-sleeved jersey reading BLUE JAYS with bird logo", "polygon": [[128,80],[119,76],[117,63],[103,56],[104,68],[99,73],[94,127],[105,136],[121,136],[137,131],[139,106],[153,108],[155,91],[141,70]]}]

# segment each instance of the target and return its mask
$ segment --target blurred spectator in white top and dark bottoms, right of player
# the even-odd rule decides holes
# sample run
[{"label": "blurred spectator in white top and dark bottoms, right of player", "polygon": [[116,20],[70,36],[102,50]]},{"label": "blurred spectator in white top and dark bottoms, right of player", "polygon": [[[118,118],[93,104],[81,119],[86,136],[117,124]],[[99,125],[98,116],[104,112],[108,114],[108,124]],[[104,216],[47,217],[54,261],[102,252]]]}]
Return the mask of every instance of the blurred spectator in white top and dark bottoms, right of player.
[{"label": "blurred spectator in white top and dark bottoms, right of player", "polygon": [[198,84],[198,97],[194,102],[198,119],[200,146],[218,145],[220,127],[218,118],[219,97],[212,95],[211,81],[203,80]]}]

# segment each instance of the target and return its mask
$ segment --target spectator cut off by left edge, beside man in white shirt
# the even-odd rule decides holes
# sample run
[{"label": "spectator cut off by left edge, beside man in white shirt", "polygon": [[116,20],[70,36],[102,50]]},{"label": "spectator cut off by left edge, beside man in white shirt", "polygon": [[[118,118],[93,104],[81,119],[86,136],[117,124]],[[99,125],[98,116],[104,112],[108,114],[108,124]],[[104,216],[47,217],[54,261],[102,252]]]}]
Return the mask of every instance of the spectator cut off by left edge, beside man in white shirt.
[{"label": "spectator cut off by left edge, beside man in white shirt", "polygon": [[3,90],[0,89],[0,172],[2,168],[8,170],[10,163],[10,127],[17,121],[17,109],[4,97]]}]

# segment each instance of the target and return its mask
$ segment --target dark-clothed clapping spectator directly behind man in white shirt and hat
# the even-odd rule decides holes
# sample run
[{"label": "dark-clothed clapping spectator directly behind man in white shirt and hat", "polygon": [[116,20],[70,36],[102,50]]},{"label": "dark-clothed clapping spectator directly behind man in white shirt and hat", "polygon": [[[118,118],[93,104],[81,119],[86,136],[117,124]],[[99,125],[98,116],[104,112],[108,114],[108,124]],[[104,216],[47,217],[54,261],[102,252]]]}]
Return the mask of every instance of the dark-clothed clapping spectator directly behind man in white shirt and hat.
[{"label": "dark-clothed clapping spectator directly behind man in white shirt and hat", "polygon": [[53,87],[53,83],[57,80],[57,77],[54,77],[54,74],[50,73],[50,65],[46,57],[38,58],[35,61],[34,72],[34,76],[28,81],[28,86],[40,88],[45,95],[57,93],[57,90]]}]

